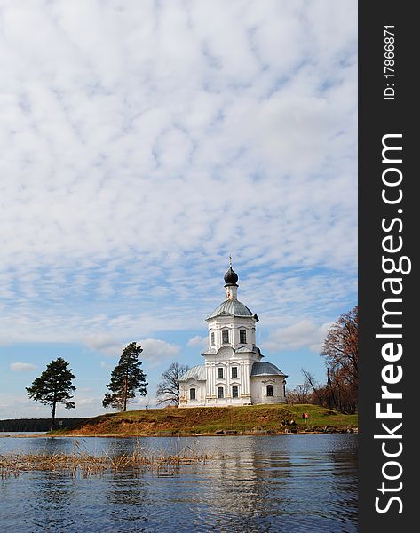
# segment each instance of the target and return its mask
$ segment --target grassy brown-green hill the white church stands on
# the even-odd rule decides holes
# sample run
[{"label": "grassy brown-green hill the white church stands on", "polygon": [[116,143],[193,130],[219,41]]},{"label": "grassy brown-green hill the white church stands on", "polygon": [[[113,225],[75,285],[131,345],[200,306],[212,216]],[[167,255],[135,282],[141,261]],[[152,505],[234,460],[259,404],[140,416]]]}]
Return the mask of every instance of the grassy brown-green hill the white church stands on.
[{"label": "grassy brown-green hill the white church stands on", "polygon": [[[309,413],[307,420],[302,413]],[[343,433],[357,431],[357,415],[316,405],[252,405],[191,409],[133,410],[87,418],[54,435],[198,435]]]}]

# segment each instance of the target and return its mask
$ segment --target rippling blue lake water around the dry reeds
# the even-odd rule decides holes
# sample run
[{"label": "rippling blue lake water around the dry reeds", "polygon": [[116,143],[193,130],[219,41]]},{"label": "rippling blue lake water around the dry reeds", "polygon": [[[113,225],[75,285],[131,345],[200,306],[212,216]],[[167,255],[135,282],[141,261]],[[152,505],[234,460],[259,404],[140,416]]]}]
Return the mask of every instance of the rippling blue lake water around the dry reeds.
[{"label": "rippling blue lake water around the dry reeds", "polygon": [[[23,473],[0,480],[5,532],[357,531],[357,436],[353,434],[87,438],[91,454],[219,450],[225,457],[184,465],[169,476]],[[0,439],[11,451],[70,452],[73,438]]]}]

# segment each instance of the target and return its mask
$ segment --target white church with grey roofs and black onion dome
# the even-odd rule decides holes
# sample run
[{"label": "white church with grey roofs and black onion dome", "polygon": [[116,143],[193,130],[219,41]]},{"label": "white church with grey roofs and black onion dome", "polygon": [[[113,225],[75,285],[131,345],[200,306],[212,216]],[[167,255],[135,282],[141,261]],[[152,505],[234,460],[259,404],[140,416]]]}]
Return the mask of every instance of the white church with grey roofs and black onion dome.
[{"label": "white church with grey roofs and black onion dome", "polygon": [[179,407],[284,403],[287,376],[263,362],[255,340],[258,316],[237,299],[238,276],[225,274],[226,300],[206,319],[209,348],[204,364],[179,378]]}]

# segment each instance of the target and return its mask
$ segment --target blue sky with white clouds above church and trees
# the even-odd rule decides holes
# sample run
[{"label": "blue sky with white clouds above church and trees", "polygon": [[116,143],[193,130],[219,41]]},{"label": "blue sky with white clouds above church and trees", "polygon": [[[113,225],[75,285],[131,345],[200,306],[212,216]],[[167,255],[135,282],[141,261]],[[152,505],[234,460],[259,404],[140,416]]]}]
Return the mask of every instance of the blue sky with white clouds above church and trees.
[{"label": "blue sky with white clouds above church and trees", "polygon": [[[201,364],[225,299],[258,345],[320,380],[356,304],[353,0],[0,0],[0,418],[62,356],[103,412],[123,347],[148,395]],[[134,408],[134,406],[132,407]]]}]

